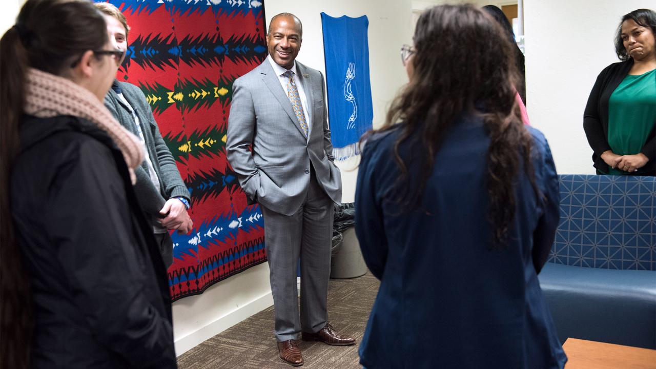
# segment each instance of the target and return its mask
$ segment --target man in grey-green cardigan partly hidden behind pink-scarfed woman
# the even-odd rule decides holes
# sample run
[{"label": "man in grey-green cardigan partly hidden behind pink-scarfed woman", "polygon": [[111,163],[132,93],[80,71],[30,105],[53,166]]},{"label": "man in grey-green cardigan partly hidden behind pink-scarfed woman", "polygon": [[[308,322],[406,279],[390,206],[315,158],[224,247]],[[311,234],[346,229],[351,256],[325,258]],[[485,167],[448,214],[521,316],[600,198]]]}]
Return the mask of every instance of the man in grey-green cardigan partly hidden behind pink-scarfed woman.
[{"label": "man in grey-green cardigan partly hidden behind pink-scarfed woman", "polygon": [[[109,3],[96,3],[96,7],[105,16],[113,47],[126,51],[130,28],[125,16]],[[194,226],[187,212],[190,207],[187,186],[139,87],[115,80],[105,97],[105,106],[123,127],[144,142],[146,158],[135,169],[134,192],[152,224],[164,262],[170,266],[173,263],[173,240],[169,230],[188,234]]]}]

